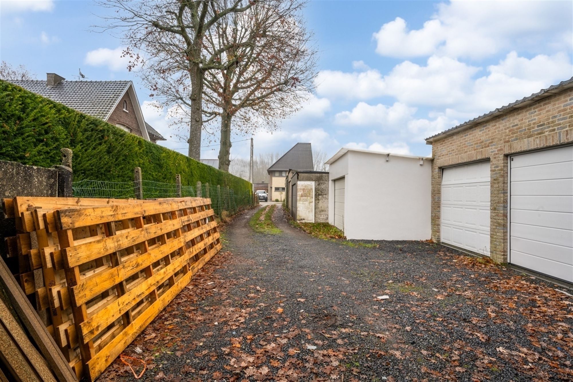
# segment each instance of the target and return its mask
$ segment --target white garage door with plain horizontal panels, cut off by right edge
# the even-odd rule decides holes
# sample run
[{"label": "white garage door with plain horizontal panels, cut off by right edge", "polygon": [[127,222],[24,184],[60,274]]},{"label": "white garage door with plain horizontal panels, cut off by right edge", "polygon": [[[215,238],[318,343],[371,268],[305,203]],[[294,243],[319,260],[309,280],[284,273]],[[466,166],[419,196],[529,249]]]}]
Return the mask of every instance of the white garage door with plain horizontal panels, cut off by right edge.
[{"label": "white garage door with plain horizontal panels, cut off by right edge", "polygon": [[509,163],[509,262],[573,282],[573,146]]}]

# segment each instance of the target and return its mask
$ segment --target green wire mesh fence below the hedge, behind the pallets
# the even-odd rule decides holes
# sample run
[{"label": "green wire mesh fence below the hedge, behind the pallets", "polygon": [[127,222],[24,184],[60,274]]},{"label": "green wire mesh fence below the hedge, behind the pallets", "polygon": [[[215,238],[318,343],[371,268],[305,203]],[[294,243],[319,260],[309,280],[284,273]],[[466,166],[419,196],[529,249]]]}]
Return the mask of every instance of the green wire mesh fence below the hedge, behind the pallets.
[{"label": "green wire mesh fence below the hedge, behind the pallets", "polygon": [[[183,198],[198,196],[197,187],[179,186],[175,183],[140,180],[143,199],[177,198],[180,187]],[[199,183],[198,183],[199,186]],[[79,180],[72,183],[73,196],[78,198],[136,198],[138,187],[135,182],[105,182],[100,180]],[[258,200],[249,191],[236,194],[234,190],[212,184],[201,184],[201,196],[211,198],[211,206],[217,216],[226,211],[234,215],[241,208],[252,206]]]}]

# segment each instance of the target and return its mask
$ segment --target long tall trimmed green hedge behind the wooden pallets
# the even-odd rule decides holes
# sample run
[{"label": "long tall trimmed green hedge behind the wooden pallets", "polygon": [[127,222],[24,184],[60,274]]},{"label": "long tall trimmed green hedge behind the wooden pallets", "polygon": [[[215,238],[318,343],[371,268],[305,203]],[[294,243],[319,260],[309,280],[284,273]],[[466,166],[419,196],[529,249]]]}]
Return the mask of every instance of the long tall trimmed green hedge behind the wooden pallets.
[{"label": "long tall trimmed green hedge behind the wooden pallets", "polygon": [[74,181],[131,182],[141,167],[146,180],[175,183],[180,174],[183,186],[200,180],[236,195],[252,190],[244,179],[1,80],[0,139],[0,160],[33,166],[60,164],[60,149],[72,149]]}]

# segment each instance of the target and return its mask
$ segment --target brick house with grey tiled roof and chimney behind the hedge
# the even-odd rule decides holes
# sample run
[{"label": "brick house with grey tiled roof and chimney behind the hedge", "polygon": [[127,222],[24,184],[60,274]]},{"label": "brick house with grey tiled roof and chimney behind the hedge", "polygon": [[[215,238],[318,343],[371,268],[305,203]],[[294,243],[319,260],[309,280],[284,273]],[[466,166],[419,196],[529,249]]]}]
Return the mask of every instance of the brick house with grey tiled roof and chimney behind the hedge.
[{"label": "brick house with grey tiled roof and chimney behind the hedge", "polygon": [[11,82],[153,143],[166,140],[144,120],[133,82],[66,81],[56,73],[46,74],[46,81]]}]

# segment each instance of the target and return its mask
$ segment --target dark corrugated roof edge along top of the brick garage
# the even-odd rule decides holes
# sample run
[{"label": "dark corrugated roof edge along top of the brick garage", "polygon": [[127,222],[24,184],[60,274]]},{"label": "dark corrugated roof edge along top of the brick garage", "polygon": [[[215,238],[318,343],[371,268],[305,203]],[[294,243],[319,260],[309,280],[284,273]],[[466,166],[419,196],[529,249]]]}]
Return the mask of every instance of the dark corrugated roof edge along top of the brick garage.
[{"label": "dark corrugated roof edge along top of the brick garage", "polygon": [[520,109],[526,107],[529,104],[537,102],[539,100],[543,100],[544,98],[550,97],[553,94],[558,94],[563,92],[563,90],[573,88],[573,77],[569,78],[568,80],[561,81],[557,85],[551,85],[547,89],[541,89],[537,93],[531,94],[531,96],[524,97],[521,100],[517,100],[511,104],[505,105],[501,108],[497,108],[494,111],[490,111],[484,115],[478,116],[472,120],[464,122],[460,125],[454,126],[446,131],[442,131],[441,133],[437,133],[431,137],[426,138],[426,144],[431,144],[433,141],[438,139],[442,139],[448,135],[452,135],[454,133],[458,133],[460,131],[464,131],[474,125],[479,123],[485,122],[487,120],[493,119],[497,116],[503,115],[504,113],[511,112],[515,109]]}]

